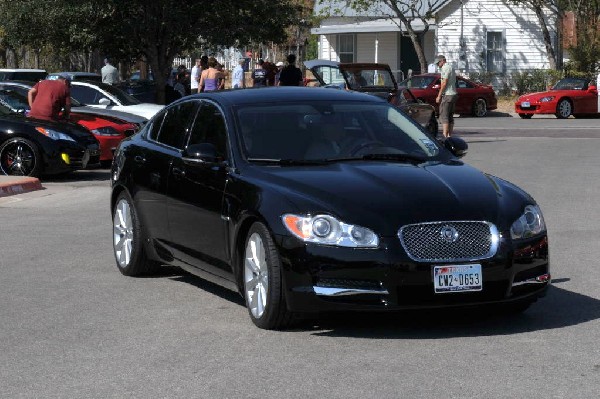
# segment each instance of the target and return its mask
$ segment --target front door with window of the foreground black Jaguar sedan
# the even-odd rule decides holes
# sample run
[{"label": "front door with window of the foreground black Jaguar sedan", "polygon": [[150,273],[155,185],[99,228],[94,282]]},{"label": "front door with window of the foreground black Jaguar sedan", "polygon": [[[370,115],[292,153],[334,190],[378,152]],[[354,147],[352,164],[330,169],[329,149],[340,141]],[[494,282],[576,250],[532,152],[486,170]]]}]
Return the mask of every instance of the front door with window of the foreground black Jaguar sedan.
[{"label": "front door with window of the foreground black Jaguar sedan", "polygon": [[[221,110],[203,101],[190,129],[188,145],[214,145],[222,164],[229,156]],[[169,176],[169,228],[177,257],[187,265],[231,279],[227,220],[223,217],[227,168],[218,164],[173,162]]]}]

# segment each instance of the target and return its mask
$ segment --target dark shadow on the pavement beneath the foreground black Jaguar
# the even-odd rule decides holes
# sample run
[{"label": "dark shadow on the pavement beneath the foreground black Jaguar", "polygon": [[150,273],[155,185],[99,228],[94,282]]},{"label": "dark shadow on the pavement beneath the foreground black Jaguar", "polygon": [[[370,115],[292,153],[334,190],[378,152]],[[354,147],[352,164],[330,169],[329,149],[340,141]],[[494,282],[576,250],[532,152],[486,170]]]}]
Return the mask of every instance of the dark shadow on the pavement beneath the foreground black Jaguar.
[{"label": "dark shadow on the pavement beneath the foreground black Jaguar", "polygon": [[[237,292],[210,283],[176,267],[164,267],[159,277],[191,284],[239,306],[244,299]],[[553,284],[570,279],[554,279]],[[377,339],[440,339],[511,335],[551,330],[600,318],[600,300],[552,285],[545,298],[521,314],[507,314],[486,308],[411,310],[390,312],[344,312],[309,315],[291,331],[313,331],[328,337]]]}]

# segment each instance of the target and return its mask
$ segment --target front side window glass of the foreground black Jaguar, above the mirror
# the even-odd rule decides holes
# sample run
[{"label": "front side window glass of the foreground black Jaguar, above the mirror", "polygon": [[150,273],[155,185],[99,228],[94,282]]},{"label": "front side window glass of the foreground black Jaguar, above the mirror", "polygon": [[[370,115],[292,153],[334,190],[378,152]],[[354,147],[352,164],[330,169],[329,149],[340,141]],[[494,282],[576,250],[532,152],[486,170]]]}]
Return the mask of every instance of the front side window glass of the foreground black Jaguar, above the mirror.
[{"label": "front side window glass of the foreground black Jaguar, above the mirror", "polygon": [[203,103],[192,129],[189,144],[210,143],[217,149],[219,157],[227,158],[227,129],[225,119],[219,109],[210,103]]}]

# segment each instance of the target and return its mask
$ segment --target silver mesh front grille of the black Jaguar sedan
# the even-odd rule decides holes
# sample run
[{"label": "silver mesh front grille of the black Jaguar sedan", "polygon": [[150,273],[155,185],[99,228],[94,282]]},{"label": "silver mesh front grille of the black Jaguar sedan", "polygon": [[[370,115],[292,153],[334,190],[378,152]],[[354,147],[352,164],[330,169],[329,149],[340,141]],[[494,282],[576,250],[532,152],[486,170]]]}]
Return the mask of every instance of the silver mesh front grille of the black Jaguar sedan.
[{"label": "silver mesh front grille of the black Jaguar sedan", "polygon": [[496,226],[480,221],[432,222],[403,226],[398,237],[418,262],[457,262],[491,258],[498,249]]}]

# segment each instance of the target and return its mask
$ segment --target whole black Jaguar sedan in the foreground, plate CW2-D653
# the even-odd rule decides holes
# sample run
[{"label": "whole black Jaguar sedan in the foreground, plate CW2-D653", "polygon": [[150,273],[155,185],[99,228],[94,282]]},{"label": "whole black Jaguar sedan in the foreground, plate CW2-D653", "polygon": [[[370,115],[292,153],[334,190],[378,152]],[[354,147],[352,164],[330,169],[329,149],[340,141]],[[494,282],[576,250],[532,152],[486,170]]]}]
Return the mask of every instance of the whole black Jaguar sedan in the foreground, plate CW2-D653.
[{"label": "whole black Jaguar sedan in the foreground, plate CW2-D653", "polygon": [[266,329],[319,311],[525,310],[550,282],[542,212],[466,151],[362,93],[189,96],[116,152],[116,263],[236,290]]}]

